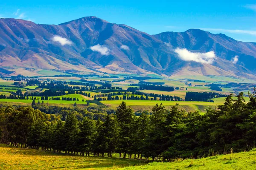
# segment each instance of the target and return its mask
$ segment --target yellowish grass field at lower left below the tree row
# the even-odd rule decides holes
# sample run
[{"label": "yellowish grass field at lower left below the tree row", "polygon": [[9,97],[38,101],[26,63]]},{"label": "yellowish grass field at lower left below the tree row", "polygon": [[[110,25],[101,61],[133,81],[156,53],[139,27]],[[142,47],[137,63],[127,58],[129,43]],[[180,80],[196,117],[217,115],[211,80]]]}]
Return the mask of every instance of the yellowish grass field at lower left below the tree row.
[{"label": "yellowish grass field at lower left below the tree row", "polygon": [[0,145],[0,160],[0,169],[5,170],[111,170],[143,164],[143,161],[135,159],[70,156],[48,150],[23,149],[6,145]]}]

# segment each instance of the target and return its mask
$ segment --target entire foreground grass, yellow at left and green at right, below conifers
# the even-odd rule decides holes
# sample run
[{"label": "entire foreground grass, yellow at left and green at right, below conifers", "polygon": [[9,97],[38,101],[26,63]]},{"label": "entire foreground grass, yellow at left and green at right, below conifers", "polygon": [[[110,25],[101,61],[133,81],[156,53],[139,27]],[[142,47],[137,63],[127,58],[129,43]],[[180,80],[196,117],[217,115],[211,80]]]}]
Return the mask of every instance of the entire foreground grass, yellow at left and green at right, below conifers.
[{"label": "entire foreground grass, yellow at left and green at right, below conifers", "polygon": [[256,150],[201,159],[147,163],[137,159],[70,156],[49,150],[24,149],[0,145],[0,169],[90,169],[90,170],[254,170]]}]

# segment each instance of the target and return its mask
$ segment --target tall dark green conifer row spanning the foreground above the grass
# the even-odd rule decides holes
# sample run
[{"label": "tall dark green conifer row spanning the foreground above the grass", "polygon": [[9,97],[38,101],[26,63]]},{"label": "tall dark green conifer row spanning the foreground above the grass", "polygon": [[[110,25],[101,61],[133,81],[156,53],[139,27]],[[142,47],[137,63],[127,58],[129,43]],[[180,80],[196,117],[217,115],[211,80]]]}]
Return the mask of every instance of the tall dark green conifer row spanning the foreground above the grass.
[{"label": "tall dark green conifer row spanning the foreground above the grass", "polygon": [[246,103],[243,93],[236,100],[227,96],[224,105],[205,115],[186,113],[177,105],[166,110],[155,105],[135,116],[124,102],[103,121],[67,113],[65,122],[31,107],[0,108],[0,141],[21,147],[55,152],[120,157],[151,157],[153,161],[200,157],[229,150],[250,150],[256,144],[256,93]]}]

